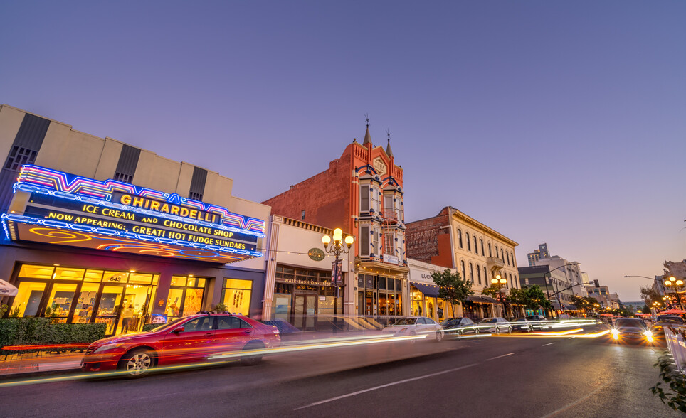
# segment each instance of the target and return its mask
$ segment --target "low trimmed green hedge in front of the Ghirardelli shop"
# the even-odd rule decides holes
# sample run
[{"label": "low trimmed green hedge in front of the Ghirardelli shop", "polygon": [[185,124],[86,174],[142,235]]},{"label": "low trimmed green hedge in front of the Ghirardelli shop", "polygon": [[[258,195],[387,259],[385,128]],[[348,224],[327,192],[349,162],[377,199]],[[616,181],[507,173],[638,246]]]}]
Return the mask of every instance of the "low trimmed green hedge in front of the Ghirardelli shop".
[{"label": "low trimmed green hedge in front of the Ghirardelli shop", "polygon": [[105,338],[106,323],[50,323],[50,318],[0,319],[0,355],[41,351],[45,348],[9,349],[16,345],[83,344]]}]

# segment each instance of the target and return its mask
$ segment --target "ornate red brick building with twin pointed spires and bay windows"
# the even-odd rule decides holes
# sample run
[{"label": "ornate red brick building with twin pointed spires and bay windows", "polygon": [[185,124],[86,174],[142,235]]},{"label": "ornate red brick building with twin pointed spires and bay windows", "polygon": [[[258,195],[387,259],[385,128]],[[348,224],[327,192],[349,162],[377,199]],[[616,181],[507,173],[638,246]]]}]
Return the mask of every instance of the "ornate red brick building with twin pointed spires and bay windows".
[{"label": "ornate red brick building with twin pointed spires and bay windows", "polygon": [[354,269],[343,277],[344,312],[399,316],[406,312],[408,272],[403,194],[403,169],[390,139],[386,149],[375,147],[367,125],[362,144],[354,139],[326,171],[263,203],[275,215],[354,236]]}]

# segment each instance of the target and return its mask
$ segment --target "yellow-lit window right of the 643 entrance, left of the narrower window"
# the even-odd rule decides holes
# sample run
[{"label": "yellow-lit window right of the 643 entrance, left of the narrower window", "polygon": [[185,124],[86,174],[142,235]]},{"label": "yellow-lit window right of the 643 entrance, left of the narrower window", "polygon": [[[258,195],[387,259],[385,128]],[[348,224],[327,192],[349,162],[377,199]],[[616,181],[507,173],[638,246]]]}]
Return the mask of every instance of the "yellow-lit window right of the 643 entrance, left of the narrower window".
[{"label": "yellow-lit window right of the 643 entrance, left of the narrower window", "polygon": [[204,277],[171,276],[167,308],[164,309],[167,321],[202,311],[205,283]]}]

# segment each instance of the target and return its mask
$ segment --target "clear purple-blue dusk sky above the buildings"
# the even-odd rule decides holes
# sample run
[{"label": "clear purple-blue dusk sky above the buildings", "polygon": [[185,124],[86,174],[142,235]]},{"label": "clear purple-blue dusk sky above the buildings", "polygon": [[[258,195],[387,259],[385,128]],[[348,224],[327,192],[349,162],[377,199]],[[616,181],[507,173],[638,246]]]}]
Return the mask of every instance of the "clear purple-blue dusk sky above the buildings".
[{"label": "clear purple-blue dusk sky above the buildings", "polygon": [[[453,206],[638,301],[686,259],[686,2],[0,2],[0,103],[261,202],[369,114],[406,221]],[[249,214],[246,214],[249,215]]]}]

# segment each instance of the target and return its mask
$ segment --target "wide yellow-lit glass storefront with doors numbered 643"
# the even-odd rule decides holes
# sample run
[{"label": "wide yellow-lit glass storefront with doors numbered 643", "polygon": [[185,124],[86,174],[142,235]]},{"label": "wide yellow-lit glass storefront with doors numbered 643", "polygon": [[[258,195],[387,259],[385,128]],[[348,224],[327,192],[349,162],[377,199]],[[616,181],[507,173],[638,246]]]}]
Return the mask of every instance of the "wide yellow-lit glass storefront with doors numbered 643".
[{"label": "wide yellow-lit glass storefront with doors numbered 643", "polygon": [[23,264],[10,315],[104,322],[110,335],[139,331],[149,320],[157,281],[156,274]]}]

